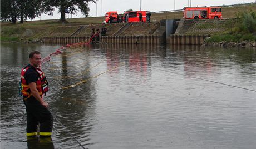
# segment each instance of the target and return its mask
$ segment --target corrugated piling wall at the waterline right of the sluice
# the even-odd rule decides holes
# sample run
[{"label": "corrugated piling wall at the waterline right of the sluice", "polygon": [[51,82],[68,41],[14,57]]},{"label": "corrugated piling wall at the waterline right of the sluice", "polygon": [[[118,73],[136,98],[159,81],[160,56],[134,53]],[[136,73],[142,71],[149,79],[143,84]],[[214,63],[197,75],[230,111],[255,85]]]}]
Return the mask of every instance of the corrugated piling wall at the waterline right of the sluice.
[{"label": "corrugated piling wall at the waterline right of the sluice", "polygon": [[172,45],[200,45],[203,44],[206,35],[177,35],[171,34],[170,44]]}]

